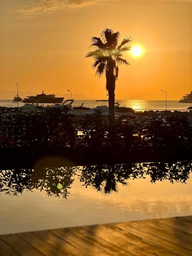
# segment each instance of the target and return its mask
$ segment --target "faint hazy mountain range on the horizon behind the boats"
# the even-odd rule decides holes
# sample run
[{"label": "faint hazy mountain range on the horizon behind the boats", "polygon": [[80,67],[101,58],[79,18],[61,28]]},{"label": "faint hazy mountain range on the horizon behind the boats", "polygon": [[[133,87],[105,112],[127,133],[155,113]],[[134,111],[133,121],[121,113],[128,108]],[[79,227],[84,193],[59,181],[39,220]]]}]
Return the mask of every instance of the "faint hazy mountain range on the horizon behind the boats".
[{"label": "faint hazy mountain range on the horizon behind the boats", "polygon": [[[41,92],[38,92],[38,94],[40,94]],[[0,90],[0,99],[6,99],[6,100],[10,100],[13,99],[14,96],[17,94],[16,90],[15,91],[6,91],[6,90]],[[21,92],[19,91],[19,96],[21,98],[25,98],[26,96],[32,96],[32,95],[36,95],[36,92]],[[45,92],[46,94],[46,92]],[[47,93],[49,94],[49,93]],[[68,99],[71,97],[70,93],[66,93],[66,94],[61,94],[61,93],[56,93],[55,94],[56,97],[64,97],[65,99]],[[90,98],[90,97],[86,97],[82,94],[72,94],[72,98],[74,98],[74,100],[93,100],[94,98]]]}]

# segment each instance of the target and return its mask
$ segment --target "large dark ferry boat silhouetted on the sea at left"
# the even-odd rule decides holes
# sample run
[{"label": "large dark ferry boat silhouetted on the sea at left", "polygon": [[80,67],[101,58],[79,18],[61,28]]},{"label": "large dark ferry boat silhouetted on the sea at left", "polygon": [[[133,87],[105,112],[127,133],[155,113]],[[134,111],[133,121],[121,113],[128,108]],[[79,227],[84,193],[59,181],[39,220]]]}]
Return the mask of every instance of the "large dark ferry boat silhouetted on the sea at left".
[{"label": "large dark ferry boat silhouetted on the sea at left", "polygon": [[46,95],[44,91],[42,91],[42,94],[37,94],[36,96],[27,96],[22,101],[24,103],[33,103],[33,102],[39,102],[39,103],[62,103],[64,100],[64,97],[56,97],[55,94],[48,94]]}]

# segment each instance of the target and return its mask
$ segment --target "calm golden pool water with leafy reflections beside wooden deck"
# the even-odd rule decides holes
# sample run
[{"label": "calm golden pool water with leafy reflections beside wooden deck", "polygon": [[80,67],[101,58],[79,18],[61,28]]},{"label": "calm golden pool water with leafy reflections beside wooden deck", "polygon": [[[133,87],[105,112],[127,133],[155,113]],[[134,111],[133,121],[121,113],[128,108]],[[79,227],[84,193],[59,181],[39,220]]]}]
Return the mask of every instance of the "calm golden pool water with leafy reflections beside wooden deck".
[{"label": "calm golden pool water with leafy reflections beside wooden deck", "polygon": [[0,234],[192,215],[191,172],[192,162],[1,170]]}]

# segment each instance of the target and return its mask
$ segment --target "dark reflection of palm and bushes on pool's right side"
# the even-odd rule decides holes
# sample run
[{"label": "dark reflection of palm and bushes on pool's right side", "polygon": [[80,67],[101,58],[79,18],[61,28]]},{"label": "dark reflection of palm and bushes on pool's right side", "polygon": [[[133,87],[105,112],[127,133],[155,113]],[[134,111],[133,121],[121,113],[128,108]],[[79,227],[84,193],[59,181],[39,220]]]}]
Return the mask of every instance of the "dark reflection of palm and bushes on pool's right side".
[{"label": "dark reflection of palm and bushes on pool's right side", "polygon": [[126,185],[129,179],[146,178],[150,176],[150,182],[157,180],[170,180],[174,182],[186,182],[192,171],[192,162],[176,163],[137,163],[117,164],[110,166],[85,166],[82,169],[80,182],[84,185],[94,186],[98,191],[104,188],[104,192],[117,191],[117,183]]}]

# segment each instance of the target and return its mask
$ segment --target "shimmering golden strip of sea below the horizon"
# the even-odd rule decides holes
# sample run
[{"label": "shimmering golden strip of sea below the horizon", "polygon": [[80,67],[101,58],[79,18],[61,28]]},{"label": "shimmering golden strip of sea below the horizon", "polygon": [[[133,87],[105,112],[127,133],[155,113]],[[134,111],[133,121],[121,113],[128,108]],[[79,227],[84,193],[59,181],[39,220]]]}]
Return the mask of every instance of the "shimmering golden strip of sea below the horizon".
[{"label": "shimmering golden strip of sea below the horizon", "polygon": [[[167,110],[177,110],[177,111],[189,111],[187,109],[189,106],[192,106],[192,103],[179,103],[178,100],[168,100],[167,104],[165,100],[116,100],[119,102],[120,107],[125,106],[133,108],[135,111],[163,111]],[[72,106],[80,106],[94,108],[99,105],[107,105],[108,102],[96,102],[96,100],[75,100]],[[23,106],[24,103],[18,102],[18,106]],[[17,107],[17,102],[12,102],[12,99],[0,100],[0,106],[3,107]],[[47,106],[47,104],[44,104]]]}]

